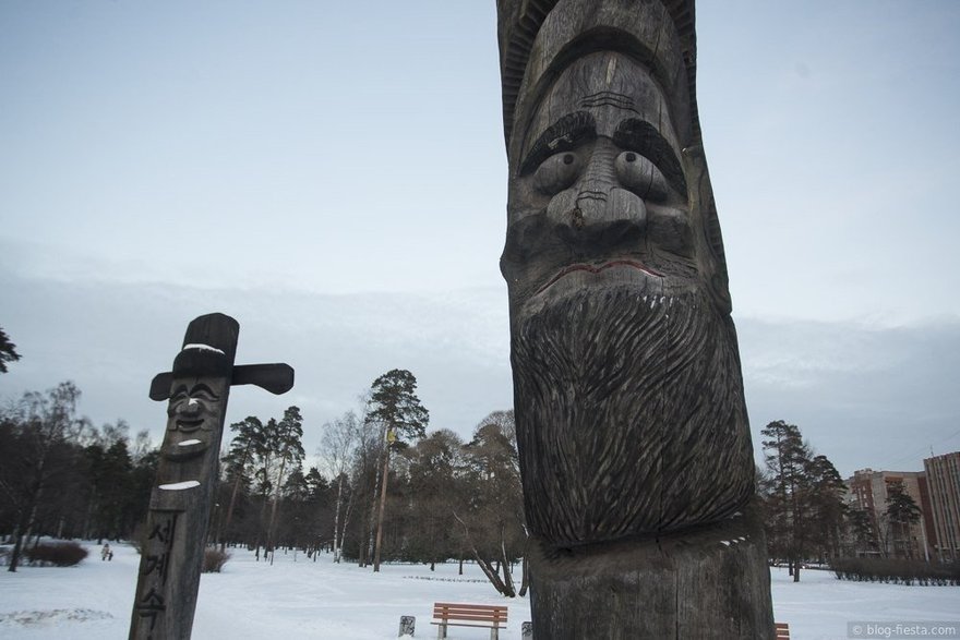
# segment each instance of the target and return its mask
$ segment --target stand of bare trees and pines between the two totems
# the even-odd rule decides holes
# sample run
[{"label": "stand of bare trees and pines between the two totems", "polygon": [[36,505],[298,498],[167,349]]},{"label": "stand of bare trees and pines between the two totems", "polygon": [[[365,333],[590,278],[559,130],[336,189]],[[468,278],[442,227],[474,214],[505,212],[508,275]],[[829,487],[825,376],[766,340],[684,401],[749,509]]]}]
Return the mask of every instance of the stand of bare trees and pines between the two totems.
[{"label": "stand of bare trees and pines between the two totems", "polygon": [[[253,416],[231,425],[212,523],[218,542],[264,558],[283,548],[316,559],[326,550],[374,571],[381,561],[432,569],[472,560],[499,592],[516,595],[526,533],[513,412],[484,418],[469,442],[428,433],[416,387],[406,370],[377,377],[359,411],[323,425],[321,462],[305,471],[292,442],[302,432]],[[283,434],[297,437],[283,445]]]}]

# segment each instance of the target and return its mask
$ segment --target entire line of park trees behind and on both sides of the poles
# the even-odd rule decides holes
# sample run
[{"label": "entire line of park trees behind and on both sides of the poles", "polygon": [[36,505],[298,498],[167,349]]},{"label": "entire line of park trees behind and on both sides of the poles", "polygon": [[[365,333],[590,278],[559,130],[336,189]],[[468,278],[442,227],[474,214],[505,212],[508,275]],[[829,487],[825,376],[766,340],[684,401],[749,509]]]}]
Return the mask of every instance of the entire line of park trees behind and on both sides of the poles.
[{"label": "entire line of park trees behind and on both sides of the poles", "polygon": [[[299,408],[231,424],[208,542],[244,545],[264,560],[277,550],[314,560],[328,551],[334,561],[374,571],[381,561],[432,569],[470,560],[499,592],[523,594],[526,565],[514,575],[527,535],[513,412],[490,413],[464,442],[445,428],[428,433],[416,389],[406,370],[377,377],[358,410],[322,426],[319,463],[305,470]],[[122,420],[96,427],[79,416],[80,397],[65,382],[0,410],[0,532],[13,543],[10,570],[41,535],[135,539],[145,519],[158,449]],[[775,421],[760,434],[767,545],[794,580],[806,561],[910,554],[896,541],[921,512],[902,485],[891,484],[884,509],[868,514],[847,502],[837,469],[800,427]]]}]

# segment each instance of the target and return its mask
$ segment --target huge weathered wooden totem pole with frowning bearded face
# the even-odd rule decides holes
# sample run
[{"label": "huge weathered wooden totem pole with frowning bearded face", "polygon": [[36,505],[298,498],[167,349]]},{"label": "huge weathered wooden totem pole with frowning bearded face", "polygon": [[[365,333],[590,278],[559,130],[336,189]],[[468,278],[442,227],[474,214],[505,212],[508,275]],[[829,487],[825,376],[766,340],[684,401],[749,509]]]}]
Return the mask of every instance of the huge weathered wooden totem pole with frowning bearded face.
[{"label": "huge weathered wooden totem pole with frowning bearded face", "polygon": [[497,0],[533,633],[771,638],[693,0]]}]

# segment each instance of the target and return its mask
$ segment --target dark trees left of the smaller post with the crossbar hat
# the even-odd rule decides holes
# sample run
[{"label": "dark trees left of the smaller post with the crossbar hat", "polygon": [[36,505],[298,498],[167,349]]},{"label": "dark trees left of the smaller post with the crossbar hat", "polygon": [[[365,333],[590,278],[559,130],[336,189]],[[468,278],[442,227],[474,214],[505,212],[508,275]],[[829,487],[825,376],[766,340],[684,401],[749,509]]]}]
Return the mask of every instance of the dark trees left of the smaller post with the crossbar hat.
[{"label": "dark trees left of the smaller post with the crossbar hat", "polygon": [[146,517],[158,452],[122,420],[96,427],[76,414],[81,391],[64,382],[0,409],[0,532],[25,544],[41,535],[119,540]]}]

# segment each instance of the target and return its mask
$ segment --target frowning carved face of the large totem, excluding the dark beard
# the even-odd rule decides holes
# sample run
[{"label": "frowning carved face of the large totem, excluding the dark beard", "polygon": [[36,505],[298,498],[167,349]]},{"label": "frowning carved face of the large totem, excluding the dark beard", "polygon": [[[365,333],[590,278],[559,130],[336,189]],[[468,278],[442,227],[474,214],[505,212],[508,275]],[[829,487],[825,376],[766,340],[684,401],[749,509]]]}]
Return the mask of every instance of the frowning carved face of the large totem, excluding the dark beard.
[{"label": "frowning carved face of the large totem, excluding the dark beard", "polygon": [[585,288],[696,287],[681,149],[647,69],[615,52],[577,60],[541,100],[521,149],[501,259],[512,315]]}]

